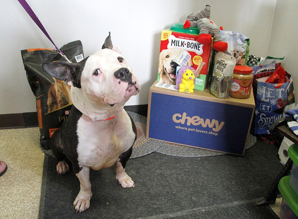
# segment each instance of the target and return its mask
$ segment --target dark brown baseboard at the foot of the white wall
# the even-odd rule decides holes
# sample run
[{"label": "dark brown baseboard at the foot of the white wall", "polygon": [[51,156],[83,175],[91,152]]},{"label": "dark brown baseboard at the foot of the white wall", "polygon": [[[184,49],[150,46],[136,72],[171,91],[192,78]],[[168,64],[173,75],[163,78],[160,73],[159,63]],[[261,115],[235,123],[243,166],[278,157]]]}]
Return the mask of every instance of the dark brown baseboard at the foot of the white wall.
[{"label": "dark brown baseboard at the foot of the white wall", "polygon": [[[124,106],[127,111],[147,117],[148,104]],[[0,129],[38,127],[37,112],[0,114]]]}]

